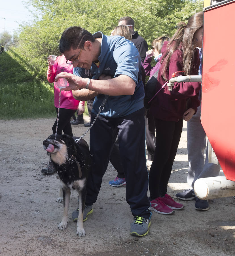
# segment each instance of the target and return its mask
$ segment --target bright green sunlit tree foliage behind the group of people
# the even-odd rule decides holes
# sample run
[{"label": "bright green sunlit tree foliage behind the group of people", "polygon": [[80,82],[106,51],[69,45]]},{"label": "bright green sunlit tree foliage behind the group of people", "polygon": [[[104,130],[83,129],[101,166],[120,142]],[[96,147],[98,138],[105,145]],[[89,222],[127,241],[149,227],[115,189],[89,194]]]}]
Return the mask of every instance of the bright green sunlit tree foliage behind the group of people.
[{"label": "bright green sunlit tree foliage behind the group of people", "polygon": [[[46,57],[60,55],[58,45],[65,28],[81,26],[89,32],[109,35],[122,16],[131,16],[135,30],[148,45],[162,35],[172,36],[178,22],[202,11],[203,1],[197,0],[29,0],[35,7],[35,20],[22,26],[13,55],[20,56],[22,65],[33,76],[45,79]],[[14,54],[13,54],[14,52]]]}]

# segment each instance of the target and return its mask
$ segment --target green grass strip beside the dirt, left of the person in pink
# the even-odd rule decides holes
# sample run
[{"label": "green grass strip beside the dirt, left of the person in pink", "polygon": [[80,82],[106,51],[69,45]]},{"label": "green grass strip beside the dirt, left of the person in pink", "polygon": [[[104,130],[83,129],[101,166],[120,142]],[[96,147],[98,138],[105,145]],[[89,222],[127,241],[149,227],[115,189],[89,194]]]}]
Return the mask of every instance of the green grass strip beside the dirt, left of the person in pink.
[{"label": "green grass strip beside the dirt, left of the person in pink", "polygon": [[54,88],[39,81],[0,85],[0,119],[53,117]]}]

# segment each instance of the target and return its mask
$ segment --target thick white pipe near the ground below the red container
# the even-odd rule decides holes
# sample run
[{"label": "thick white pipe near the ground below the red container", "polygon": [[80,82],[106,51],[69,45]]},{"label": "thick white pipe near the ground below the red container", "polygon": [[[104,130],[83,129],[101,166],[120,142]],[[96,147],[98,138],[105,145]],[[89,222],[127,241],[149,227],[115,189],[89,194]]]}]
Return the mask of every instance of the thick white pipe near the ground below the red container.
[{"label": "thick white pipe near the ground below the red container", "polygon": [[197,179],[193,188],[202,200],[235,195],[235,181],[227,180],[225,176]]}]

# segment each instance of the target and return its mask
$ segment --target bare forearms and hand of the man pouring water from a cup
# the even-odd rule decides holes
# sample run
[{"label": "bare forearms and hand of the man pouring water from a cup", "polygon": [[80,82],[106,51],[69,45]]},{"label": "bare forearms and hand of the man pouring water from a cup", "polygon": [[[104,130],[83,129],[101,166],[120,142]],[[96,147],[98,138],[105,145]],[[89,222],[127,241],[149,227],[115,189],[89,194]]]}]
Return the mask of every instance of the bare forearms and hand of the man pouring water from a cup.
[{"label": "bare forearms and hand of the man pouring water from a cup", "polygon": [[[69,82],[69,86],[61,89],[65,91],[84,89],[86,88],[87,83],[89,81],[88,78],[82,78],[66,72],[62,72],[58,74],[55,77],[55,81],[57,81],[60,77],[67,79],[67,81]],[[98,94],[101,93],[101,94],[111,95],[111,96],[133,95],[135,92],[135,88],[136,88],[136,82],[132,78],[128,77],[127,75],[119,75],[118,77],[108,79],[108,80],[91,79],[88,84],[89,90],[93,92],[97,92]],[[88,93],[85,93],[84,96],[88,96]],[[77,96],[75,95],[76,100],[78,99],[88,100],[88,98],[81,99],[76,97]]]}]

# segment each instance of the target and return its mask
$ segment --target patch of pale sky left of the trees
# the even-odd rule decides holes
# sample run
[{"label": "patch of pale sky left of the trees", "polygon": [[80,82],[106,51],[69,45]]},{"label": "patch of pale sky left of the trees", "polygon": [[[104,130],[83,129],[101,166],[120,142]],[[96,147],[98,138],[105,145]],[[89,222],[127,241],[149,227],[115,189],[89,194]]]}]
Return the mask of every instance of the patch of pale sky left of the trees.
[{"label": "patch of pale sky left of the trees", "polygon": [[[5,18],[5,19],[4,19]],[[0,33],[5,31],[13,35],[18,23],[32,20],[31,13],[21,0],[0,0]]]}]

